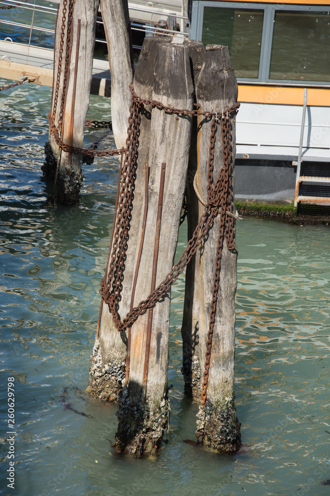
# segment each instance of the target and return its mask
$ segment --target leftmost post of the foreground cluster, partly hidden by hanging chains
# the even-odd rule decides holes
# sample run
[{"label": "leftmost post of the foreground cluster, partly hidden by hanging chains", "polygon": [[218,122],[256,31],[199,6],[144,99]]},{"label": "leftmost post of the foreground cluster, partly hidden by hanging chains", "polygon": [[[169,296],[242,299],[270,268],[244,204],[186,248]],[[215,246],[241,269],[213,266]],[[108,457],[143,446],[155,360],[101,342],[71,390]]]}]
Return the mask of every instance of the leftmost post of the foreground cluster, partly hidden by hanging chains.
[{"label": "leftmost post of the foreground cluster, partly hidden by hanging chains", "polygon": [[[158,44],[166,42],[168,42],[168,39],[156,37],[145,38],[143,42],[134,76],[135,91],[143,99],[152,97],[155,48]],[[132,309],[133,282],[137,268],[139,270],[138,260],[143,228],[143,212],[145,210],[145,169],[149,155],[150,124],[151,106],[142,105],[134,206],[131,212],[129,243],[126,251],[126,264],[119,303],[119,314],[122,316],[125,316]],[[110,247],[110,252],[111,250],[112,247]],[[129,365],[126,367],[126,361],[130,357],[130,337],[131,329],[128,329],[126,333],[117,331],[109,307],[102,300],[88,392],[105,401],[118,401],[125,382],[125,376],[128,379]]]}]

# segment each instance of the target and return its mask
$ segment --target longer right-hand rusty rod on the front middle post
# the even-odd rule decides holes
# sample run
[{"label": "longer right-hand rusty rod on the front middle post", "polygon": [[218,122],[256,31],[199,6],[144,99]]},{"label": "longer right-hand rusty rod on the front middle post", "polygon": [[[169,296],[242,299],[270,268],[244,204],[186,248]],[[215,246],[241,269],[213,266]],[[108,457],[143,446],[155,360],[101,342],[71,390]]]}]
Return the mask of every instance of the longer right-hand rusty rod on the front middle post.
[{"label": "longer right-hand rusty rod on the front middle post", "polygon": [[[162,219],[163,210],[163,195],[164,195],[164,184],[165,184],[165,169],[166,163],[162,163],[161,175],[160,175],[160,186],[159,186],[159,197],[158,197],[158,209],[157,209],[157,222],[156,222],[156,235],[155,235],[155,248],[153,251],[153,263],[152,263],[152,275],[151,275],[151,289],[150,293],[153,293],[156,287],[156,275],[157,275],[157,262],[158,262],[158,248],[159,248],[159,234],[160,234],[160,224]],[[145,356],[144,356],[144,367],[143,367],[143,388],[144,388],[144,399],[146,396],[146,384],[148,380],[148,368],[149,368],[149,355],[150,355],[150,343],[151,343],[151,328],[152,328],[152,316],[153,307],[148,311],[148,322],[146,331],[146,343],[145,343]]]}]

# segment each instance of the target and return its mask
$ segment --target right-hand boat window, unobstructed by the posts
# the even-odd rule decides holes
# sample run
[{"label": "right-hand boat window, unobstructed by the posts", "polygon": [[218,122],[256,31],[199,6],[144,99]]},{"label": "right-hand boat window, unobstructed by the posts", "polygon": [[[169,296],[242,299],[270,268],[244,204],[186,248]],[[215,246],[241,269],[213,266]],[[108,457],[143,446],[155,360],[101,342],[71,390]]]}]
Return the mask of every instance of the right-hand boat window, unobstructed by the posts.
[{"label": "right-hand boat window, unobstructed by the posts", "polygon": [[329,12],[275,12],[269,78],[330,81]]}]

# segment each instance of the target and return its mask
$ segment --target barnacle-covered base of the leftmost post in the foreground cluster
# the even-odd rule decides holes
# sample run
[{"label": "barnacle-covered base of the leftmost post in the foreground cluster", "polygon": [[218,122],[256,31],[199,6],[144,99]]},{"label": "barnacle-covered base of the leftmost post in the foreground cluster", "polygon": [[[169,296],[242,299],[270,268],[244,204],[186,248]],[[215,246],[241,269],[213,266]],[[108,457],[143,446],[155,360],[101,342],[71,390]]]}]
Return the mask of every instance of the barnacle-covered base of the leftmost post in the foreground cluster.
[{"label": "barnacle-covered base of the leftmost post in the foreground cluster", "polygon": [[93,365],[86,392],[103,401],[117,402],[125,381],[125,362],[112,360],[104,364],[98,339],[94,344],[92,358]]}]

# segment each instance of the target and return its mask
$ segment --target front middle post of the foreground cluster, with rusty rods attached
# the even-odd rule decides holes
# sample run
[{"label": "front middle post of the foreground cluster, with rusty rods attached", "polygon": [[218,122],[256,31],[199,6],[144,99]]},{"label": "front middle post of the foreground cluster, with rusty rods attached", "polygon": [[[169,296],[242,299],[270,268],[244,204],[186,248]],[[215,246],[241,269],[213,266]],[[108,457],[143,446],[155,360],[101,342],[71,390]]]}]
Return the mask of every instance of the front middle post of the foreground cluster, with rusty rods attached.
[{"label": "front middle post of the foreground cluster, with rusty rods attached", "polygon": [[[152,98],[162,101],[165,106],[192,110],[193,86],[187,47],[173,43],[157,47]],[[153,108],[148,155],[147,236],[141,253],[135,305],[150,290],[152,292],[153,280],[157,286],[172,269],[185,191],[190,131],[190,116],[171,115]],[[157,217],[156,222],[156,212],[160,202],[161,178],[164,179],[164,197],[157,263],[155,229],[159,221]],[[116,446],[135,456],[155,454],[168,425],[169,318],[170,294],[167,293],[156,303],[153,315],[149,310],[132,326],[128,387],[120,402]]]}]

